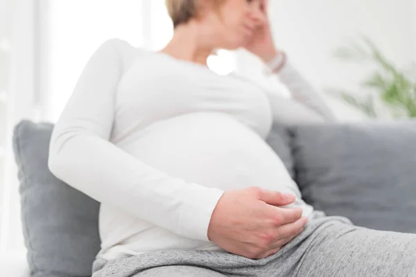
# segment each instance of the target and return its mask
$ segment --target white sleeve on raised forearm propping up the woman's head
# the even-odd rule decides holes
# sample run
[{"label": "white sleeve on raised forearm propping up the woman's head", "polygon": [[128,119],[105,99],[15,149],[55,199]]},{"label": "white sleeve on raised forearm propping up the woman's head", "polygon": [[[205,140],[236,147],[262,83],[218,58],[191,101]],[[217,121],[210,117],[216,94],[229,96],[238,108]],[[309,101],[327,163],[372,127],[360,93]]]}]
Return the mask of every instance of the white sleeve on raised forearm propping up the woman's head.
[{"label": "white sleeve on raised forearm propping up the woman's head", "polygon": [[[286,60],[284,67],[277,73],[277,78],[282,84],[285,84],[288,91],[297,102],[308,107],[311,111],[318,113],[324,121],[334,120],[333,113],[325,104],[318,91],[300,74],[299,71]],[[306,111],[309,114],[309,112]]]}]

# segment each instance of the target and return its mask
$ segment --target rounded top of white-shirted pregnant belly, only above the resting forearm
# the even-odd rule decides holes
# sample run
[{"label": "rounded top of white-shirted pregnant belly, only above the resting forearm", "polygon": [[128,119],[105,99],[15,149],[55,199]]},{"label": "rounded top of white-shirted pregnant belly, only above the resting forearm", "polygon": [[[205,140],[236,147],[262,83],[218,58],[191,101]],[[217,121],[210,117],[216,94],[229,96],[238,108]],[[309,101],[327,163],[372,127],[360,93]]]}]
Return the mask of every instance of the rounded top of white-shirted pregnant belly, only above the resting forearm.
[{"label": "rounded top of white-shirted pregnant belly, only above the resting forearm", "polygon": [[277,154],[230,116],[177,116],[133,136],[121,148],[173,177],[222,190],[260,186],[300,196]]}]

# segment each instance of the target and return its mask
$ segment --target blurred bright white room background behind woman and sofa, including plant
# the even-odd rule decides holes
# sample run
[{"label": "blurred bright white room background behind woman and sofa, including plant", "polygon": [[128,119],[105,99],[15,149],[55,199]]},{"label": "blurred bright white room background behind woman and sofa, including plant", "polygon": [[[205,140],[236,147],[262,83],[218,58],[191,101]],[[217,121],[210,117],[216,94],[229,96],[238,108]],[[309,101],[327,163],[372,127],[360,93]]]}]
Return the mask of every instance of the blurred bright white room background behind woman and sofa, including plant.
[{"label": "blurred bright white room background behind woman and sofa, including plant", "polygon": [[[338,120],[416,116],[416,0],[270,0],[270,20],[277,46]],[[172,34],[164,0],[0,0],[0,258],[24,251],[15,124],[54,123],[105,40],[157,51]],[[245,51],[209,58],[218,74],[247,75],[290,97],[262,66]]]}]

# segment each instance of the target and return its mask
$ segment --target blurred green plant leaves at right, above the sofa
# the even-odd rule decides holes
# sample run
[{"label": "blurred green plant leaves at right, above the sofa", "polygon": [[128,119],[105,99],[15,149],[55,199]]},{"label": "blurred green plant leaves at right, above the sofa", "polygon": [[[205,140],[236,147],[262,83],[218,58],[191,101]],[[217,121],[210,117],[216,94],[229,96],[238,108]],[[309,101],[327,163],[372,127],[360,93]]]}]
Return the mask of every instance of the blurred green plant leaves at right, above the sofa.
[{"label": "blurred green plant leaves at right, above the sofa", "polygon": [[[335,56],[348,62],[372,63],[374,71],[361,82],[364,93],[357,95],[349,91],[331,91],[350,105],[370,117],[377,117],[378,102],[395,118],[416,117],[416,73],[415,68],[398,69],[386,58],[374,43],[363,37],[363,44],[339,48]],[[371,93],[370,93],[371,92]],[[354,96],[355,95],[355,96]]]}]

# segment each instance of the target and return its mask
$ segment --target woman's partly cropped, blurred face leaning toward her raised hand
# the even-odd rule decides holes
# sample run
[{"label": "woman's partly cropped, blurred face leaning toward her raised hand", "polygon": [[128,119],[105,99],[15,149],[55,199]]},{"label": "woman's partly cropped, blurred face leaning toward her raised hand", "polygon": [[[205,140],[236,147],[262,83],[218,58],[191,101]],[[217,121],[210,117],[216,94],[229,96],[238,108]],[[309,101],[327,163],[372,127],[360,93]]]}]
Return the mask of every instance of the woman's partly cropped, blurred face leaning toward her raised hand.
[{"label": "woman's partly cropped, blurred face leaning toward her raised hand", "polygon": [[219,13],[212,10],[210,24],[217,47],[236,49],[248,44],[254,31],[266,22],[264,4],[264,0],[225,0]]}]

